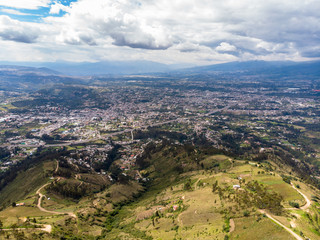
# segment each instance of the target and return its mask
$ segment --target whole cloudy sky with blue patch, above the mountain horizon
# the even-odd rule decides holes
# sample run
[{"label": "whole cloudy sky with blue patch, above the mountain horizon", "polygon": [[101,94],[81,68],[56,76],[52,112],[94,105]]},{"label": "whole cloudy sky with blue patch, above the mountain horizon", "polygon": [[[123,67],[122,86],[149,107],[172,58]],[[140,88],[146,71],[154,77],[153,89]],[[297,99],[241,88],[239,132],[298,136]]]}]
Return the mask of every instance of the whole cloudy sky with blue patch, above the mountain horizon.
[{"label": "whole cloudy sky with blue patch, above the mountain horizon", "polygon": [[319,59],[319,0],[0,0],[0,61]]}]

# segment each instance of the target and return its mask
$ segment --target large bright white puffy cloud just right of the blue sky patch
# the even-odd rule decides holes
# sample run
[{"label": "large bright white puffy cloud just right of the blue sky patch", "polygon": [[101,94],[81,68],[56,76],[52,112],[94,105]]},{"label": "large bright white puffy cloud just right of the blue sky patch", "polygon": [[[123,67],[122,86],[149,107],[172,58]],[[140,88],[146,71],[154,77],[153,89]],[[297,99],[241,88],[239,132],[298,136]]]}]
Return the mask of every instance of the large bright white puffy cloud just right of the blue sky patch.
[{"label": "large bright white puffy cloud just right of the blue sky patch", "polygon": [[170,47],[168,32],[163,26],[150,25],[147,19],[140,18],[136,12],[139,8],[138,2],[129,0],[82,0],[73,3],[63,18],[48,18],[47,21],[67,23],[63,24],[58,40],[69,44],[90,45],[111,39],[114,45],[131,48]]}]

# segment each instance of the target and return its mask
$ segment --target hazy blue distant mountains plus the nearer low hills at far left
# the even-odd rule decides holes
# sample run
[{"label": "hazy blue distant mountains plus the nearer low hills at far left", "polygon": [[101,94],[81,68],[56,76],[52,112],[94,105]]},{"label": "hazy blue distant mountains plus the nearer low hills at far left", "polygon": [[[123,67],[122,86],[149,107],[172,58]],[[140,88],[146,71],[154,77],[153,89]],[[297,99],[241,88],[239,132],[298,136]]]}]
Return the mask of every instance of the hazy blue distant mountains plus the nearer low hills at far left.
[{"label": "hazy blue distant mountains plus the nearer low hills at far left", "polygon": [[178,69],[179,67],[183,65],[165,65],[150,61],[26,63],[26,66],[6,64],[0,65],[0,90],[32,91],[55,84],[90,84],[92,81],[90,76],[94,75],[104,76],[106,79],[114,75],[152,75],[153,73],[168,76],[176,74],[231,75],[233,78],[260,76],[261,79],[290,78],[292,80],[320,78],[320,61],[248,61],[183,69]]}]

